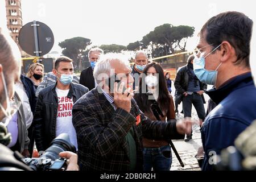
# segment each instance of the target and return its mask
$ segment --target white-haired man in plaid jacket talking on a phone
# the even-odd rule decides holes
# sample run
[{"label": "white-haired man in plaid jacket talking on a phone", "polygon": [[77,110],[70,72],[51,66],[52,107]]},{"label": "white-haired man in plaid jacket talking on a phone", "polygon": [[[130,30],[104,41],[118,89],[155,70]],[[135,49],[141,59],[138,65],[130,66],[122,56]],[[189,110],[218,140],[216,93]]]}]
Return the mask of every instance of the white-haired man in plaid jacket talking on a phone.
[{"label": "white-haired man in plaid jacket talking on a phone", "polygon": [[[118,89],[116,82],[110,82],[114,84],[114,94],[108,86],[110,69],[122,80]],[[130,72],[129,62],[122,57],[104,55],[96,65],[94,77],[104,73],[108,77],[97,80],[98,86],[73,106],[80,170],[141,171],[142,134],[150,139],[174,139],[190,132],[191,122],[152,122],[145,117],[133,99]]]}]

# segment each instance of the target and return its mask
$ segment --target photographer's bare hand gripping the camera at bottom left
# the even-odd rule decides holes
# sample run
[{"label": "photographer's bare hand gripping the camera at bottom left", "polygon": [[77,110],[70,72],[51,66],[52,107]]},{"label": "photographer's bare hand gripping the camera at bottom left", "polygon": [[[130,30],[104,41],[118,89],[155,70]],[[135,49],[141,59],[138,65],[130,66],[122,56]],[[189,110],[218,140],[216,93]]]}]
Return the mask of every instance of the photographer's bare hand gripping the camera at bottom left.
[{"label": "photographer's bare hand gripping the camera at bottom left", "polygon": [[68,159],[67,171],[79,171],[79,166],[77,165],[77,154],[66,151],[66,152],[60,152],[59,155],[61,158]]}]

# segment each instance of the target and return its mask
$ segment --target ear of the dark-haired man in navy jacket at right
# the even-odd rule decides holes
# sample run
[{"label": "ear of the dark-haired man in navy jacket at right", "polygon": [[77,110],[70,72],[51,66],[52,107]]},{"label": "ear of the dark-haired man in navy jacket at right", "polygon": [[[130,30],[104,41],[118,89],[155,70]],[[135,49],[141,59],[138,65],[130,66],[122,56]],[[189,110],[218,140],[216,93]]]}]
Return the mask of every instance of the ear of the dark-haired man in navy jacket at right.
[{"label": "ear of the dark-haired man in navy jacket at right", "polygon": [[232,57],[236,56],[236,51],[233,46],[228,41],[222,42],[220,46],[220,52],[221,52],[221,62],[225,62]]}]

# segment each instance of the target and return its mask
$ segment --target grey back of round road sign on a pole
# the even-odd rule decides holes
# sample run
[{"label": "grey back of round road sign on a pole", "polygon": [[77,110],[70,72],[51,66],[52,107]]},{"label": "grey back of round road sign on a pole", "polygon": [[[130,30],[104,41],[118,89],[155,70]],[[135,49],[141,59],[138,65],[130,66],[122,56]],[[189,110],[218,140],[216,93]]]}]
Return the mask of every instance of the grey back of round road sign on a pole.
[{"label": "grey back of round road sign on a pole", "polygon": [[31,56],[43,56],[51,51],[54,36],[51,28],[42,22],[25,24],[19,32],[19,45]]}]

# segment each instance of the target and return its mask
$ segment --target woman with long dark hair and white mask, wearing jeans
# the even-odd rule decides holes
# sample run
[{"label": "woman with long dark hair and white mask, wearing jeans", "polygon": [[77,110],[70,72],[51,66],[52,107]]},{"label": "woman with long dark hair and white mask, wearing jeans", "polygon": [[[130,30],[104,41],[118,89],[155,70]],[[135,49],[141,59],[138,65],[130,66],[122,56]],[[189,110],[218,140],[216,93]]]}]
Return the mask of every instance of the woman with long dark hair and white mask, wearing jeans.
[{"label": "woman with long dark hair and white mask, wearing jeans", "polygon": [[[164,117],[159,115],[161,121],[166,122],[166,119],[174,119],[174,101],[167,90],[166,78],[162,67],[153,62],[144,68],[143,73],[139,82],[139,93],[134,95],[139,109],[152,121],[157,120],[150,107],[154,100],[148,98],[146,94],[150,91],[153,93],[153,99],[158,102],[163,112]],[[144,171],[150,171],[152,168],[155,171],[169,171],[172,163],[171,147],[166,140],[143,138],[143,158]]]}]

